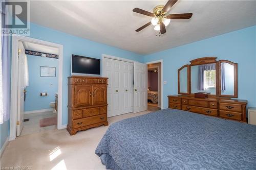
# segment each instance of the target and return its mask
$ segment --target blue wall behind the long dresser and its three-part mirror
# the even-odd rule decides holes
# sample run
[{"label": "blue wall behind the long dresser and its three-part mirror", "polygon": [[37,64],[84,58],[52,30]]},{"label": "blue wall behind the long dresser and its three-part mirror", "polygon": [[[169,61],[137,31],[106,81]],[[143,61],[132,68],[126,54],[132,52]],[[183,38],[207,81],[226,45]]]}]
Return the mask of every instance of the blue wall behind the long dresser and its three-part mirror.
[{"label": "blue wall behind the long dresser and its three-part mirror", "polygon": [[[256,26],[189,43],[144,56],[144,62],[163,59],[163,106],[167,95],[177,94],[177,69],[200,57],[218,57],[238,63],[238,97],[256,106]],[[182,37],[181,37],[182,38]]]}]

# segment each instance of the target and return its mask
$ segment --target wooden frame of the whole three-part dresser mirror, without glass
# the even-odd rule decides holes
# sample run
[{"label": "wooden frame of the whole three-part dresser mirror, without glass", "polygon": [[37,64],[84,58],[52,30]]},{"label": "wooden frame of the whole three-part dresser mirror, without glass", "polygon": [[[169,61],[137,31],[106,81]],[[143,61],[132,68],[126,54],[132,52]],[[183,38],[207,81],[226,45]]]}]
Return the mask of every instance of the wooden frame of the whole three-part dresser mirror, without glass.
[{"label": "wooden frame of the whole three-part dresser mirror, without glass", "polygon": [[[186,94],[190,96],[194,96],[194,93],[191,93],[191,66],[193,65],[203,65],[203,64],[216,64],[216,94],[208,95],[209,98],[217,98],[217,97],[225,97],[225,98],[238,98],[238,64],[233,63],[229,60],[216,60],[217,57],[203,57],[197,58],[195,60],[191,60],[190,64],[183,65],[178,69],[178,94]],[[226,62],[234,66],[234,95],[222,95],[221,94],[221,63]],[[180,70],[184,67],[188,67],[188,76],[187,76],[187,93],[180,92]]]}]

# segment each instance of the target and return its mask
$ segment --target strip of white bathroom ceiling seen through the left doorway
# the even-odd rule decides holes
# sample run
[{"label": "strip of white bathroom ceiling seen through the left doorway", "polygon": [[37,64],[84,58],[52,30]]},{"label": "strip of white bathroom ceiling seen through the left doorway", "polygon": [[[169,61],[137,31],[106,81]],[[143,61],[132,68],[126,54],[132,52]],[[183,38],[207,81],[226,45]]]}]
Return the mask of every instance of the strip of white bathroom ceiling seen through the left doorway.
[{"label": "strip of white bathroom ceiling seen through the left doorway", "polygon": [[23,45],[25,50],[32,50],[35,52],[42,52],[42,53],[49,53],[49,54],[56,54],[58,55],[59,50],[58,48],[52,46],[46,46],[41,44],[36,44],[32,42],[23,41]]}]

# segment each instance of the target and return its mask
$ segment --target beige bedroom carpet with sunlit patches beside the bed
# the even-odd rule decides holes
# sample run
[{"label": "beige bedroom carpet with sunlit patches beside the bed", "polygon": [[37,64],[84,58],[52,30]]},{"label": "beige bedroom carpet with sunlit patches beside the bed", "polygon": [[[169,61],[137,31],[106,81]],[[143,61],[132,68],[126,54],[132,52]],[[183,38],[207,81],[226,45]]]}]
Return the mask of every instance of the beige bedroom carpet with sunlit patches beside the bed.
[{"label": "beige bedroom carpet with sunlit patches beside the bed", "polygon": [[[109,124],[150,113],[128,113],[108,118]],[[28,134],[9,142],[1,167],[30,166],[32,169],[105,169],[94,151],[109,126],[70,136],[66,129]]]}]

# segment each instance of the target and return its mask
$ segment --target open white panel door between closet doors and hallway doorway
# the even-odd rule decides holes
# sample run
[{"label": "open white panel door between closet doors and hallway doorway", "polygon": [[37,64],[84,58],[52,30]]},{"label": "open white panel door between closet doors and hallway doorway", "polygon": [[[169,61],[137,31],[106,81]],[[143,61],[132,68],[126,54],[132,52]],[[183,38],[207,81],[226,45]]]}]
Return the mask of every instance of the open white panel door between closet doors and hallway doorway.
[{"label": "open white panel door between closet doors and hallway doorway", "polygon": [[134,113],[147,110],[147,65],[134,62]]}]

